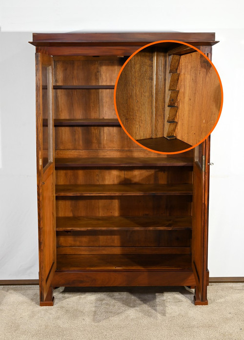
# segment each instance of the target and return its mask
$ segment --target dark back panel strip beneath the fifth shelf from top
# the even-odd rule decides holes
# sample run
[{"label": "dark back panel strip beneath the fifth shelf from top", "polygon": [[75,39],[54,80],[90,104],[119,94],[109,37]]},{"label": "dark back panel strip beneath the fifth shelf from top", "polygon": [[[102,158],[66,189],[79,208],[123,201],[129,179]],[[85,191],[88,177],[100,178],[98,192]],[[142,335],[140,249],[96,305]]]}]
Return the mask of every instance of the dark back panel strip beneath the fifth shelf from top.
[{"label": "dark back panel strip beneath the fifth shelf from top", "polygon": [[57,232],[57,247],[190,247],[191,231]]}]

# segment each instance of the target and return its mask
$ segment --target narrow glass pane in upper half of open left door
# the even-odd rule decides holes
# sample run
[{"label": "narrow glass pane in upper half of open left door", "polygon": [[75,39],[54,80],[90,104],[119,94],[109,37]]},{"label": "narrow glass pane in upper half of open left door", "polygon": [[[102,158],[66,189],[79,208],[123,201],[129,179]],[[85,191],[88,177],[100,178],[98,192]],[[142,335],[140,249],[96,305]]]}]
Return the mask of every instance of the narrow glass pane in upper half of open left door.
[{"label": "narrow glass pane in upper half of open left door", "polygon": [[42,168],[52,162],[51,66],[42,65]]}]

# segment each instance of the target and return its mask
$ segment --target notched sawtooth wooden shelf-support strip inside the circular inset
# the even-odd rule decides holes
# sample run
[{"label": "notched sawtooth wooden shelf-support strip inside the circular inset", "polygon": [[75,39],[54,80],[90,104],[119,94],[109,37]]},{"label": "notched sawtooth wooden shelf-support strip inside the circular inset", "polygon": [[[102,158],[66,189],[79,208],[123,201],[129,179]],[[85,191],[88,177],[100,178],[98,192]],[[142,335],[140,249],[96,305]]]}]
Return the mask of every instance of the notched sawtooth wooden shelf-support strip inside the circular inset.
[{"label": "notched sawtooth wooden shelf-support strip inside the circular inset", "polygon": [[179,90],[177,90],[180,73],[178,73],[178,65],[181,56],[171,55],[167,58],[166,64],[166,100],[165,100],[165,122],[164,137],[167,139],[176,139],[175,129],[177,122],[175,120],[178,106],[176,101]]}]

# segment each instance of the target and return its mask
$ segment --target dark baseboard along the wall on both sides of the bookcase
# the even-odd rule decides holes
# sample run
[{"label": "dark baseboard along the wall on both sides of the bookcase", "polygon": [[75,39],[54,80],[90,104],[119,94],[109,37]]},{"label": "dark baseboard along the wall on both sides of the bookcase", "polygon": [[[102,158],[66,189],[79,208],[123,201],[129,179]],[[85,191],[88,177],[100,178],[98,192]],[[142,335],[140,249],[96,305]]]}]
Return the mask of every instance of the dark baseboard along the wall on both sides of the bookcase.
[{"label": "dark baseboard along the wall on both sides of the bookcase", "polygon": [[[209,283],[237,283],[244,282],[244,276],[209,277]],[[0,280],[0,286],[39,285],[39,280]]]}]

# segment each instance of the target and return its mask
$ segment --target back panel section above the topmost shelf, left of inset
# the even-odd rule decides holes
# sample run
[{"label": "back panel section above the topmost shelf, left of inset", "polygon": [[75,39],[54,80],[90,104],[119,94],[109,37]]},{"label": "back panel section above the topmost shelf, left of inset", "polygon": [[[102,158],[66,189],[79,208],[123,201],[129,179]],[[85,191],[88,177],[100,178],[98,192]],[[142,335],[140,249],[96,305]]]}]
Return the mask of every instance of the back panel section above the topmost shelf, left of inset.
[{"label": "back panel section above the topmost shelf, left of inset", "polygon": [[114,85],[125,62],[120,57],[54,59],[54,85]]}]

